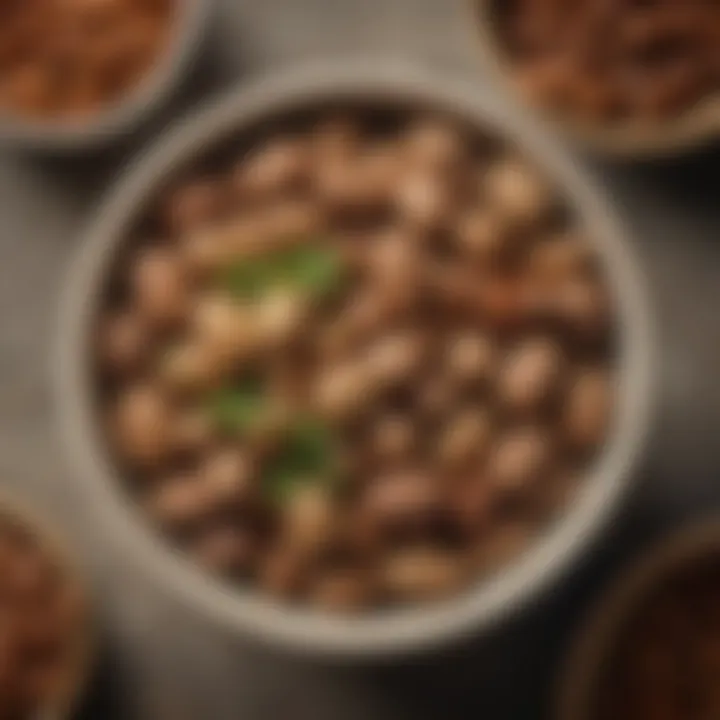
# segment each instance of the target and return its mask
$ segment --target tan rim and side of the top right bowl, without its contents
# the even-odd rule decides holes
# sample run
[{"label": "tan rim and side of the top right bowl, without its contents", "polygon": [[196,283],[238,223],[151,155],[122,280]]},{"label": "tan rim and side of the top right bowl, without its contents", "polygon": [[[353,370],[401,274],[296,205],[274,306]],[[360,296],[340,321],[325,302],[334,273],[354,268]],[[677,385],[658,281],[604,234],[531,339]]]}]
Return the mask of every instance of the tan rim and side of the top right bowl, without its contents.
[{"label": "tan rim and side of the top right bowl, without its contents", "polygon": [[512,60],[495,29],[498,0],[469,0],[470,27],[483,65],[498,86],[508,87],[561,135],[593,153],[617,159],[651,160],[690,152],[720,137],[720,94],[672,120],[655,124],[591,123],[545,110],[522,96],[513,82]]}]

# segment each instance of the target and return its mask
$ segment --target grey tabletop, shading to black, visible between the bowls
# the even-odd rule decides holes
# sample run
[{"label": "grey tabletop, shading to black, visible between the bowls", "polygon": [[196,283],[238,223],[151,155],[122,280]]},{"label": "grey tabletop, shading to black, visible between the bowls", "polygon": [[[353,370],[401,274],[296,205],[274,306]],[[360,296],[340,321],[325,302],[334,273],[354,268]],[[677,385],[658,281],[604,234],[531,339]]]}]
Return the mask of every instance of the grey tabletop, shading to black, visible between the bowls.
[{"label": "grey tabletop, shading to black, visible between the bowls", "polygon": [[310,58],[387,54],[481,83],[454,0],[223,0],[188,91],[141,137],[85,161],[0,155],[0,477],[70,534],[101,603],[103,659],[86,718],[352,720],[549,717],[557,661],[593,595],[637,548],[720,505],[720,156],[590,163],[646,268],[659,320],[658,420],[628,507],[550,596],[492,637],[431,658],[333,667],[223,636],[98,539],[63,471],[48,368],[65,265],[124,154],[210,92]]}]

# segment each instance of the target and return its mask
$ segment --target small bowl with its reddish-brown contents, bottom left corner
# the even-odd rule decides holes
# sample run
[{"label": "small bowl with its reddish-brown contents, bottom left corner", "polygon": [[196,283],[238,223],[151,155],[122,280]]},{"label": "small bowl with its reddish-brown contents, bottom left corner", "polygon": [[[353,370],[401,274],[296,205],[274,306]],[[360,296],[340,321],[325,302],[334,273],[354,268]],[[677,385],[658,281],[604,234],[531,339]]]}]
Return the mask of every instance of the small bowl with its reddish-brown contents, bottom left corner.
[{"label": "small bowl with its reddish-brown contents, bottom left corner", "polygon": [[0,497],[0,716],[69,717],[90,672],[87,598],[45,525]]}]

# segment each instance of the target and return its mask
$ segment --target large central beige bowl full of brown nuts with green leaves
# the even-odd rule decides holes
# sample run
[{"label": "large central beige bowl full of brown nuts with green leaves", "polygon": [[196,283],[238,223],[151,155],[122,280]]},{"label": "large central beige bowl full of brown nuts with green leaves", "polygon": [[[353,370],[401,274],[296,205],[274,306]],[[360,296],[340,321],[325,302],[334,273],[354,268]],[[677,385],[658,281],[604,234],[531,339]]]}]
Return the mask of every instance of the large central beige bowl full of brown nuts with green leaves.
[{"label": "large central beige bowl full of brown nuts with green leaves", "polygon": [[131,170],[82,246],[57,363],[77,477],[226,626],[360,655],[461,635],[627,487],[641,277],[562,152],[468,90],[270,78]]}]

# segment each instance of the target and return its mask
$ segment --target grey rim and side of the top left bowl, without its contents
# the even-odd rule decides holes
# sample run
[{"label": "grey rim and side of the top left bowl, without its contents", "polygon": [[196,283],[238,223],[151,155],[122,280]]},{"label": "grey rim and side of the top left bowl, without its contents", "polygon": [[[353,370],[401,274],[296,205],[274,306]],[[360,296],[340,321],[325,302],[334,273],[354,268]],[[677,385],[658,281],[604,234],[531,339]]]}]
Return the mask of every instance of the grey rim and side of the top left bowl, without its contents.
[{"label": "grey rim and side of the top left bowl, without its contents", "polygon": [[156,64],[127,94],[78,120],[35,120],[0,115],[0,144],[62,155],[94,150],[126,137],[179,88],[209,27],[214,0],[177,0],[170,42]]}]

